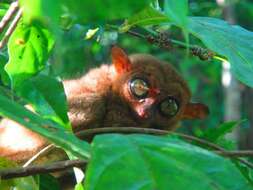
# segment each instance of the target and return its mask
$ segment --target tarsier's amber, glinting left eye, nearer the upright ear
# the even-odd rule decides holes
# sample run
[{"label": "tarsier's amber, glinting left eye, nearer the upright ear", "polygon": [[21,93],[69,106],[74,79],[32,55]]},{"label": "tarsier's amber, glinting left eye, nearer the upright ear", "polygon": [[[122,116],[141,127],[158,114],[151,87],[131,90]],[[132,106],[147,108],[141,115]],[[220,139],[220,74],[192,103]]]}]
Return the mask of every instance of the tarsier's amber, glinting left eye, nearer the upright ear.
[{"label": "tarsier's amber, glinting left eye, nearer the upright ear", "polygon": [[149,91],[148,82],[141,78],[134,78],[130,81],[130,90],[137,98],[146,98]]}]

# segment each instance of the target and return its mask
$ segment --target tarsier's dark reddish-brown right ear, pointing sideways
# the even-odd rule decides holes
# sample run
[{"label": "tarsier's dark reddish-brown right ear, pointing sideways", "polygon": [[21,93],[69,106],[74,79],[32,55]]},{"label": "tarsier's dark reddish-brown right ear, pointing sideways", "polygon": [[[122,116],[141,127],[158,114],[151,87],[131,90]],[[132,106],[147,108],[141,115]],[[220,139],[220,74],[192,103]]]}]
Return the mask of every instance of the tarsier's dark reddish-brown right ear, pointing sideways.
[{"label": "tarsier's dark reddish-brown right ear, pointing sideways", "polygon": [[209,114],[209,109],[201,103],[188,103],[183,112],[183,119],[204,119]]}]

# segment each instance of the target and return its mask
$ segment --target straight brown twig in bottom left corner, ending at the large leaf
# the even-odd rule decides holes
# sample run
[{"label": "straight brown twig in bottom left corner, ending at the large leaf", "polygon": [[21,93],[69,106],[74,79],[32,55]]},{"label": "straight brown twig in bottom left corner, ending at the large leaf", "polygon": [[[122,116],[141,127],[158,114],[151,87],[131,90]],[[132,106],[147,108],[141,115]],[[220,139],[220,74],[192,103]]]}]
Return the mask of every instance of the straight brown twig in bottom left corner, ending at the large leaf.
[{"label": "straight brown twig in bottom left corner, ending at the large leaf", "polygon": [[12,168],[0,170],[0,179],[11,179],[16,177],[25,177],[35,174],[43,174],[50,172],[57,172],[66,170],[72,167],[83,168],[87,164],[85,160],[66,160],[54,162],[53,164],[41,165],[41,166],[29,166],[26,168]]}]

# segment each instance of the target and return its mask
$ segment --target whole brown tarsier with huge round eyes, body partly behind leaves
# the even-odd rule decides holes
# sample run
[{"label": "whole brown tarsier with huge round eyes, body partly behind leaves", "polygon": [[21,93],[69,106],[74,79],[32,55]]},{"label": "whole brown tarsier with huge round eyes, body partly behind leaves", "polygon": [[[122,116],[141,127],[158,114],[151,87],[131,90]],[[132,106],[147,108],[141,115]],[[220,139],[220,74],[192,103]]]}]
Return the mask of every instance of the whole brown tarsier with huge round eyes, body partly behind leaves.
[{"label": "whole brown tarsier with huge round eyes, body partly behind leaves", "polygon": [[[111,50],[112,64],[64,81],[74,131],[95,127],[176,128],[182,119],[204,118],[206,106],[191,103],[184,79],[168,63],[147,54]],[[0,123],[0,157],[29,159],[47,141],[8,119]]]}]

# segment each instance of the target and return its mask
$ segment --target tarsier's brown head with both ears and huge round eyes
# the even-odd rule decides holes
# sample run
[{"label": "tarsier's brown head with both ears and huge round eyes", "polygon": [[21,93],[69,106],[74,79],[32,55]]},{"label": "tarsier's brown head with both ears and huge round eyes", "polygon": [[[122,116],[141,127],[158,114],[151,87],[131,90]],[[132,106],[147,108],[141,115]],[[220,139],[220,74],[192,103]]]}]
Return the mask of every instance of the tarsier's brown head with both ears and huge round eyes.
[{"label": "tarsier's brown head with both ears and huge round eyes", "polygon": [[113,89],[144,125],[173,129],[179,120],[208,115],[205,105],[190,102],[186,82],[170,64],[146,54],[128,56],[117,46],[112,63],[117,75]]}]

